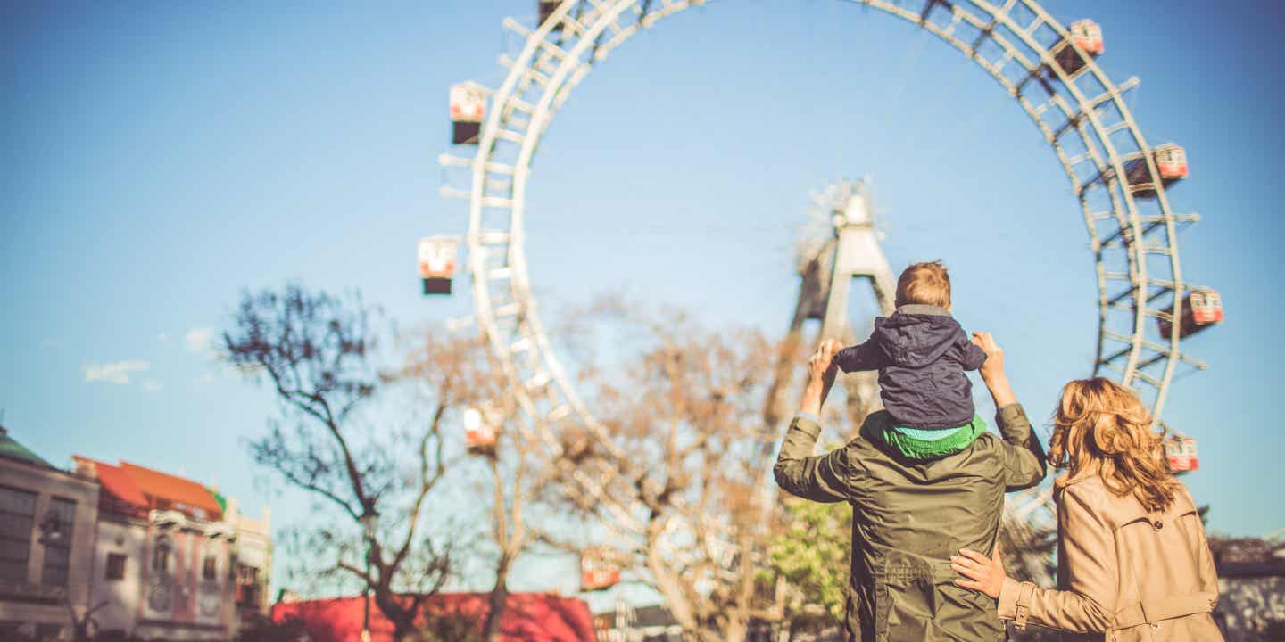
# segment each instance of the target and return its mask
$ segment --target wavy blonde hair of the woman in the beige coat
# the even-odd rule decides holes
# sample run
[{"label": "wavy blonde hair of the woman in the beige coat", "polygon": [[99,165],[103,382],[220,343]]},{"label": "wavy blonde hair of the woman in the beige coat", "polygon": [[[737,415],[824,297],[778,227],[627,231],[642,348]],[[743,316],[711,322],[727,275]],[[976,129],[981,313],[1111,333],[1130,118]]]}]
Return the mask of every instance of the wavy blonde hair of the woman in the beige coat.
[{"label": "wavy blonde hair of the woman in the beige coat", "polygon": [[1164,433],[1127,388],[1109,379],[1077,379],[1061,389],[1049,438],[1049,464],[1068,479],[1096,473],[1117,496],[1132,494],[1148,511],[1173,503],[1178,480],[1169,473]]}]

